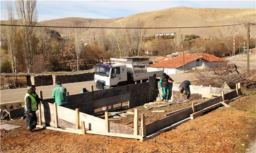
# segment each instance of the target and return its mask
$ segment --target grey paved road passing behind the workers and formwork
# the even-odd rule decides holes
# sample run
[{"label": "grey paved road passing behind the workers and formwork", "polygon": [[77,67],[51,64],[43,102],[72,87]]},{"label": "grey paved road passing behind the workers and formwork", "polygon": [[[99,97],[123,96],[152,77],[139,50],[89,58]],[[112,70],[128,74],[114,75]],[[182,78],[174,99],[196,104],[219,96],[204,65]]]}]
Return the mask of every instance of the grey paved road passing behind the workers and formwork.
[{"label": "grey paved road passing behind the workers and formwork", "polygon": [[[190,79],[192,73],[184,73],[184,74],[171,74],[171,78],[179,83],[184,80]],[[94,85],[94,81],[85,81],[85,82],[78,82],[78,83],[65,83],[62,84],[63,87],[67,88],[69,95],[80,93],[83,88],[91,91],[91,86]],[[52,96],[52,89],[54,89],[56,85],[48,85],[48,86],[40,86],[36,87],[36,92],[39,95],[39,91],[42,91],[43,98],[51,98]],[[93,88],[93,90],[98,90]],[[22,89],[7,89],[7,90],[0,90],[0,103],[13,103],[13,102],[22,102],[24,101],[25,94],[27,93],[27,88]]]}]

